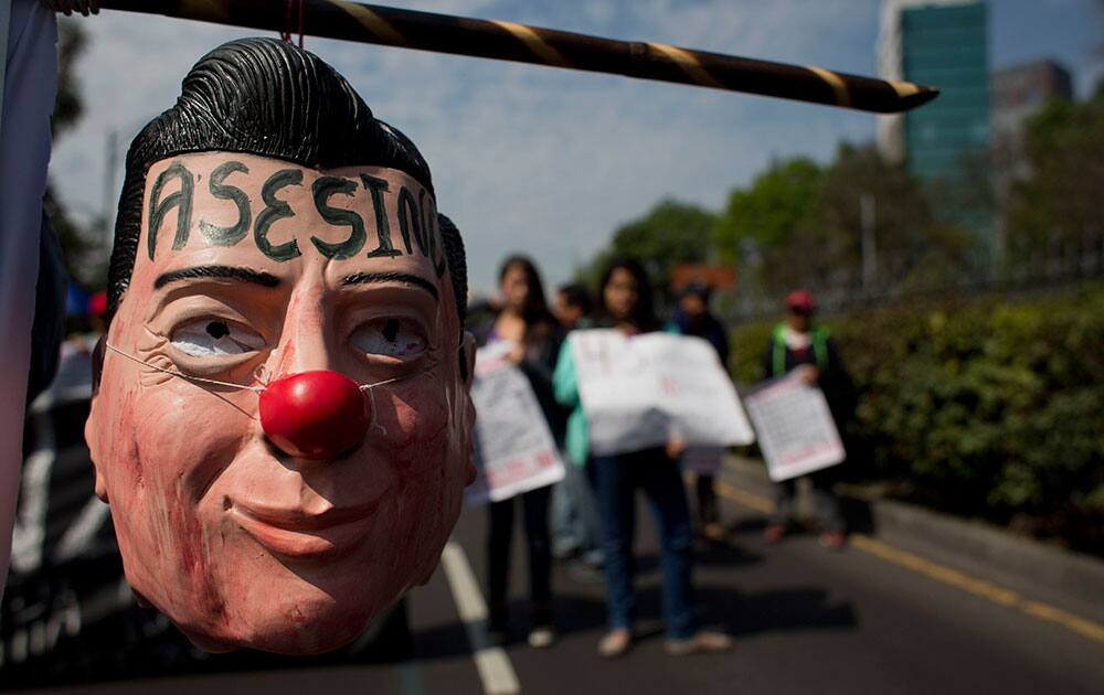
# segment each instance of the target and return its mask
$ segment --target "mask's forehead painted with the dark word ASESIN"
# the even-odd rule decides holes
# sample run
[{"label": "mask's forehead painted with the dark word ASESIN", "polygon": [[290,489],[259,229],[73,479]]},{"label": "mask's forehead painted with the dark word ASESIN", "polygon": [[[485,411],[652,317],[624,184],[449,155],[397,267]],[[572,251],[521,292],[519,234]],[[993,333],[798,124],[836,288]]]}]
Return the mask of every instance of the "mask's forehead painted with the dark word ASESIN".
[{"label": "mask's forehead painted with the dark word ASESIN", "polygon": [[252,244],[287,261],[307,254],[330,260],[421,254],[437,277],[444,246],[433,194],[385,167],[326,172],[253,154],[190,153],[148,173],[146,253],[190,245]]}]

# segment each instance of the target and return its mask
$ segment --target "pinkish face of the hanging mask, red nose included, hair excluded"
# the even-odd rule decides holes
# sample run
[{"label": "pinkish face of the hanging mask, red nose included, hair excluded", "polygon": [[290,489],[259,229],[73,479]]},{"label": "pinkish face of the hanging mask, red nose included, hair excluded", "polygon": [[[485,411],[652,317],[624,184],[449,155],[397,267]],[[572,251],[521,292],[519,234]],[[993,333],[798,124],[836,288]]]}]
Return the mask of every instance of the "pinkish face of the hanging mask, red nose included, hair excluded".
[{"label": "pinkish face of the hanging mask, red nose included, hair excluded", "polygon": [[128,581],[198,645],[332,650],[433,573],[475,474],[433,206],[391,169],[149,170],[86,436]]}]

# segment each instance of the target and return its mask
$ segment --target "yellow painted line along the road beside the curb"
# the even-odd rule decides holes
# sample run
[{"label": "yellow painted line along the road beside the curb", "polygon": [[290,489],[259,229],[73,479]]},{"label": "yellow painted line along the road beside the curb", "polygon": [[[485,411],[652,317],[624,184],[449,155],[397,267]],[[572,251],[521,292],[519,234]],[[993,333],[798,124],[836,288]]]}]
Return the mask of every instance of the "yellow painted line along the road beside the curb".
[{"label": "yellow painted line along the road beside the curb", "polygon": [[[716,492],[723,498],[728,498],[737,504],[743,504],[744,506],[763,514],[769,514],[774,511],[774,503],[771,500],[762,498],[757,494],[752,494],[751,492],[746,492],[720,480],[716,481]],[[1038,620],[1045,620],[1048,622],[1060,624],[1066,630],[1080,634],[1087,640],[1104,642],[1104,626],[1089,620],[1087,618],[1081,618],[1080,616],[1075,616],[1049,603],[1032,601],[998,584],[994,584],[978,577],[972,577],[966,573],[952,569],[946,565],[933,563],[932,560],[921,557],[920,555],[895,548],[881,541],[875,541],[870,536],[852,534],[850,536],[850,544],[852,547],[856,547],[864,553],[880,557],[881,559],[892,563],[899,567],[911,569],[917,574],[928,577],[930,579],[934,579],[935,581],[953,586],[968,594],[973,594],[974,596],[978,596],[999,606],[1004,606],[1005,608],[1018,610],[1021,613],[1026,613]]]}]

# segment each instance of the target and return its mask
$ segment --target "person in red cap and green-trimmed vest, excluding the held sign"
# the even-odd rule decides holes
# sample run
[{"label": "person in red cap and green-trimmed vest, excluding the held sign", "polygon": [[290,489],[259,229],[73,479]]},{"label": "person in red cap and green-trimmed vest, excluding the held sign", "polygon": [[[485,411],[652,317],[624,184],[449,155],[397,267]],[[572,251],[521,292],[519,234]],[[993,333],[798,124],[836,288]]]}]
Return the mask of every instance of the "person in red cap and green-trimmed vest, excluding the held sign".
[{"label": "person in red cap and green-trimmed vest, excluding the held sign", "polygon": [[[768,378],[798,372],[807,384],[820,387],[828,400],[836,427],[843,426],[854,411],[854,386],[843,368],[828,330],[814,324],[816,302],[813,295],[795,289],[786,296],[786,320],[775,327],[763,355],[764,373]],[[838,467],[816,471],[808,475],[813,488],[814,515],[820,524],[821,544],[839,548],[846,541],[846,524],[839,500],[831,487]],[[775,511],[767,524],[765,537],[777,543],[786,535],[793,522],[794,498],[797,479],[778,483]]]}]

